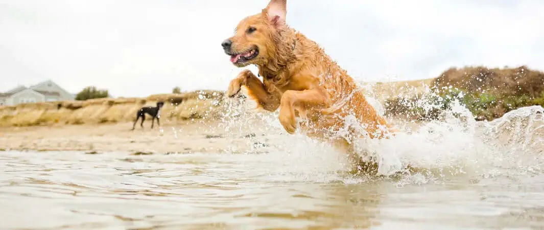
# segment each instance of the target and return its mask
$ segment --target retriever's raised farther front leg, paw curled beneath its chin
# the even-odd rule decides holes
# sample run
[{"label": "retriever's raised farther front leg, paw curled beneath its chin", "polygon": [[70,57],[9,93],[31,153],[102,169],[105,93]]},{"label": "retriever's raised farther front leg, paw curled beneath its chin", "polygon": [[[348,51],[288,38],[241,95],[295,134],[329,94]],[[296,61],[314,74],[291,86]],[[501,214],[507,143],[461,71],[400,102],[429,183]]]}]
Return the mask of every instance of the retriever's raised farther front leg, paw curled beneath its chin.
[{"label": "retriever's raised farther front leg, paw curled beneath its chin", "polygon": [[257,101],[259,107],[268,111],[276,111],[280,107],[280,94],[268,92],[261,80],[249,70],[240,72],[238,77],[231,80],[226,92],[227,96],[233,97],[238,94],[242,85],[248,88],[248,95]]}]

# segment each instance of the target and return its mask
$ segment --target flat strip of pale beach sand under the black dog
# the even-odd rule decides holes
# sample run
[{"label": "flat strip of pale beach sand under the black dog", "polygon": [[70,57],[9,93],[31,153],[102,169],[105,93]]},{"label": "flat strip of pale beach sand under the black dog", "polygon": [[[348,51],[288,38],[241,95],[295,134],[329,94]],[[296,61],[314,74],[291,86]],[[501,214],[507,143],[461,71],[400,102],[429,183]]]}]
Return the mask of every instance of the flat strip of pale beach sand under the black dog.
[{"label": "flat strip of pale beach sand under the black dog", "polygon": [[[221,121],[167,123],[132,129],[131,122],[0,128],[0,149],[35,151],[221,153],[267,152],[282,134],[247,123],[226,130]],[[249,128],[249,126],[251,126]],[[277,146],[277,145],[276,145]]]}]

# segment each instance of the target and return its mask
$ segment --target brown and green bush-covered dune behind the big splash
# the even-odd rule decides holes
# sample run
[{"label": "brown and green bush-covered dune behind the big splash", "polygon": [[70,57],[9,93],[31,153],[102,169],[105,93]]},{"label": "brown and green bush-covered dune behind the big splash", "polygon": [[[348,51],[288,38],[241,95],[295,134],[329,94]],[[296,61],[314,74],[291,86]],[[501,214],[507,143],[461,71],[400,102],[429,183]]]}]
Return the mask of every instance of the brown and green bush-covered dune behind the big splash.
[{"label": "brown and green bush-covered dune behind the big splash", "polygon": [[435,94],[387,100],[387,114],[417,120],[436,119],[440,110],[449,108],[456,100],[477,120],[493,120],[520,107],[544,106],[544,73],[526,66],[449,69],[431,83],[431,89]]}]

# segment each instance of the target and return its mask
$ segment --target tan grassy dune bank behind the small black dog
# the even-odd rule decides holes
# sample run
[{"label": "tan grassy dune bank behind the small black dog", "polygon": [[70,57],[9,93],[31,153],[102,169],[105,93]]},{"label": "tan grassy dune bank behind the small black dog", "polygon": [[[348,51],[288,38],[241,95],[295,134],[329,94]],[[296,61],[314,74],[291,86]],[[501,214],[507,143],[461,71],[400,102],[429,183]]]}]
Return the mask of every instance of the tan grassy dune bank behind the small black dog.
[{"label": "tan grassy dune bank behind the small black dog", "polygon": [[[165,102],[167,120],[217,117],[222,92],[201,90],[184,94],[161,94],[147,98],[98,98],[87,101],[63,101],[19,104],[0,107],[0,126],[36,126],[132,121],[143,106]],[[163,120],[164,121],[164,120]]]}]

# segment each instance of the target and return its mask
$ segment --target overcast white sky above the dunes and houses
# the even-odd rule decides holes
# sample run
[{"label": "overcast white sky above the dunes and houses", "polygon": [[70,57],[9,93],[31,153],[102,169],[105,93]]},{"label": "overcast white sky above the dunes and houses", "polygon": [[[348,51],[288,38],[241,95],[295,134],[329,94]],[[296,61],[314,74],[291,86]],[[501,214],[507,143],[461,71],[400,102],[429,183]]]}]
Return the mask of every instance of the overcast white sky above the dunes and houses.
[{"label": "overcast white sky above the dunes and houses", "polygon": [[[226,89],[220,43],[268,0],[0,0],[0,91],[52,79],[114,96]],[[450,66],[544,69],[544,1],[290,0],[287,23],[360,81]],[[250,68],[254,69],[254,68]]]}]

